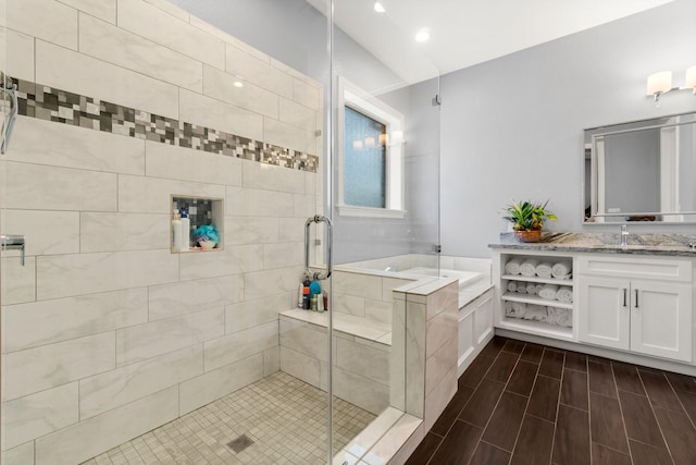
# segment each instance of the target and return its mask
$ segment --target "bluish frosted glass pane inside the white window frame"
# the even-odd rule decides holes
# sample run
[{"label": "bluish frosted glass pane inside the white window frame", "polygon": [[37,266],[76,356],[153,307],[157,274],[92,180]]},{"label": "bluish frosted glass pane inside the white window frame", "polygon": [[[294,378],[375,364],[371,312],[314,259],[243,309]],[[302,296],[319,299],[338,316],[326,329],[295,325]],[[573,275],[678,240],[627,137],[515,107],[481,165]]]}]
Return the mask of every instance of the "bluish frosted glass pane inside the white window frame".
[{"label": "bluish frosted glass pane inside the white window frame", "polygon": [[346,107],[344,174],[347,205],[386,207],[386,125]]}]

